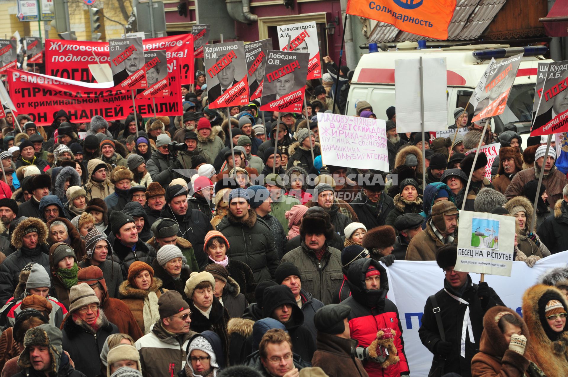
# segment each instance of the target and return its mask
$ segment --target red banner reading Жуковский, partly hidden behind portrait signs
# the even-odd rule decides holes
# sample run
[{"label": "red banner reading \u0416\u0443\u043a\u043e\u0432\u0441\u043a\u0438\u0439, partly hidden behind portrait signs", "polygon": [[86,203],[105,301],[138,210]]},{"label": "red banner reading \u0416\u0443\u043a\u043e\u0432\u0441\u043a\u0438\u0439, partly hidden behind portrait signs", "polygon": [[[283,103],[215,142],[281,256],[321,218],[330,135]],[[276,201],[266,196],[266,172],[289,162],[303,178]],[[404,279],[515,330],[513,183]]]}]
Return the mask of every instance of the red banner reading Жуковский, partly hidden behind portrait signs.
[{"label": "red banner reading \u0416\u0443\u043a\u043e\u0432\u0441\u043a\u0438\u0439, partly hidden behind portrait signs", "polygon": [[[166,57],[177,58],[182,84],[194,81],[193,36],[191,34],[149,38],[142,41],[145,51],[166,50]],[[95,82],[89,64],[110,64],[108,42],[45,40],[45,73],[64,79]]]}]

